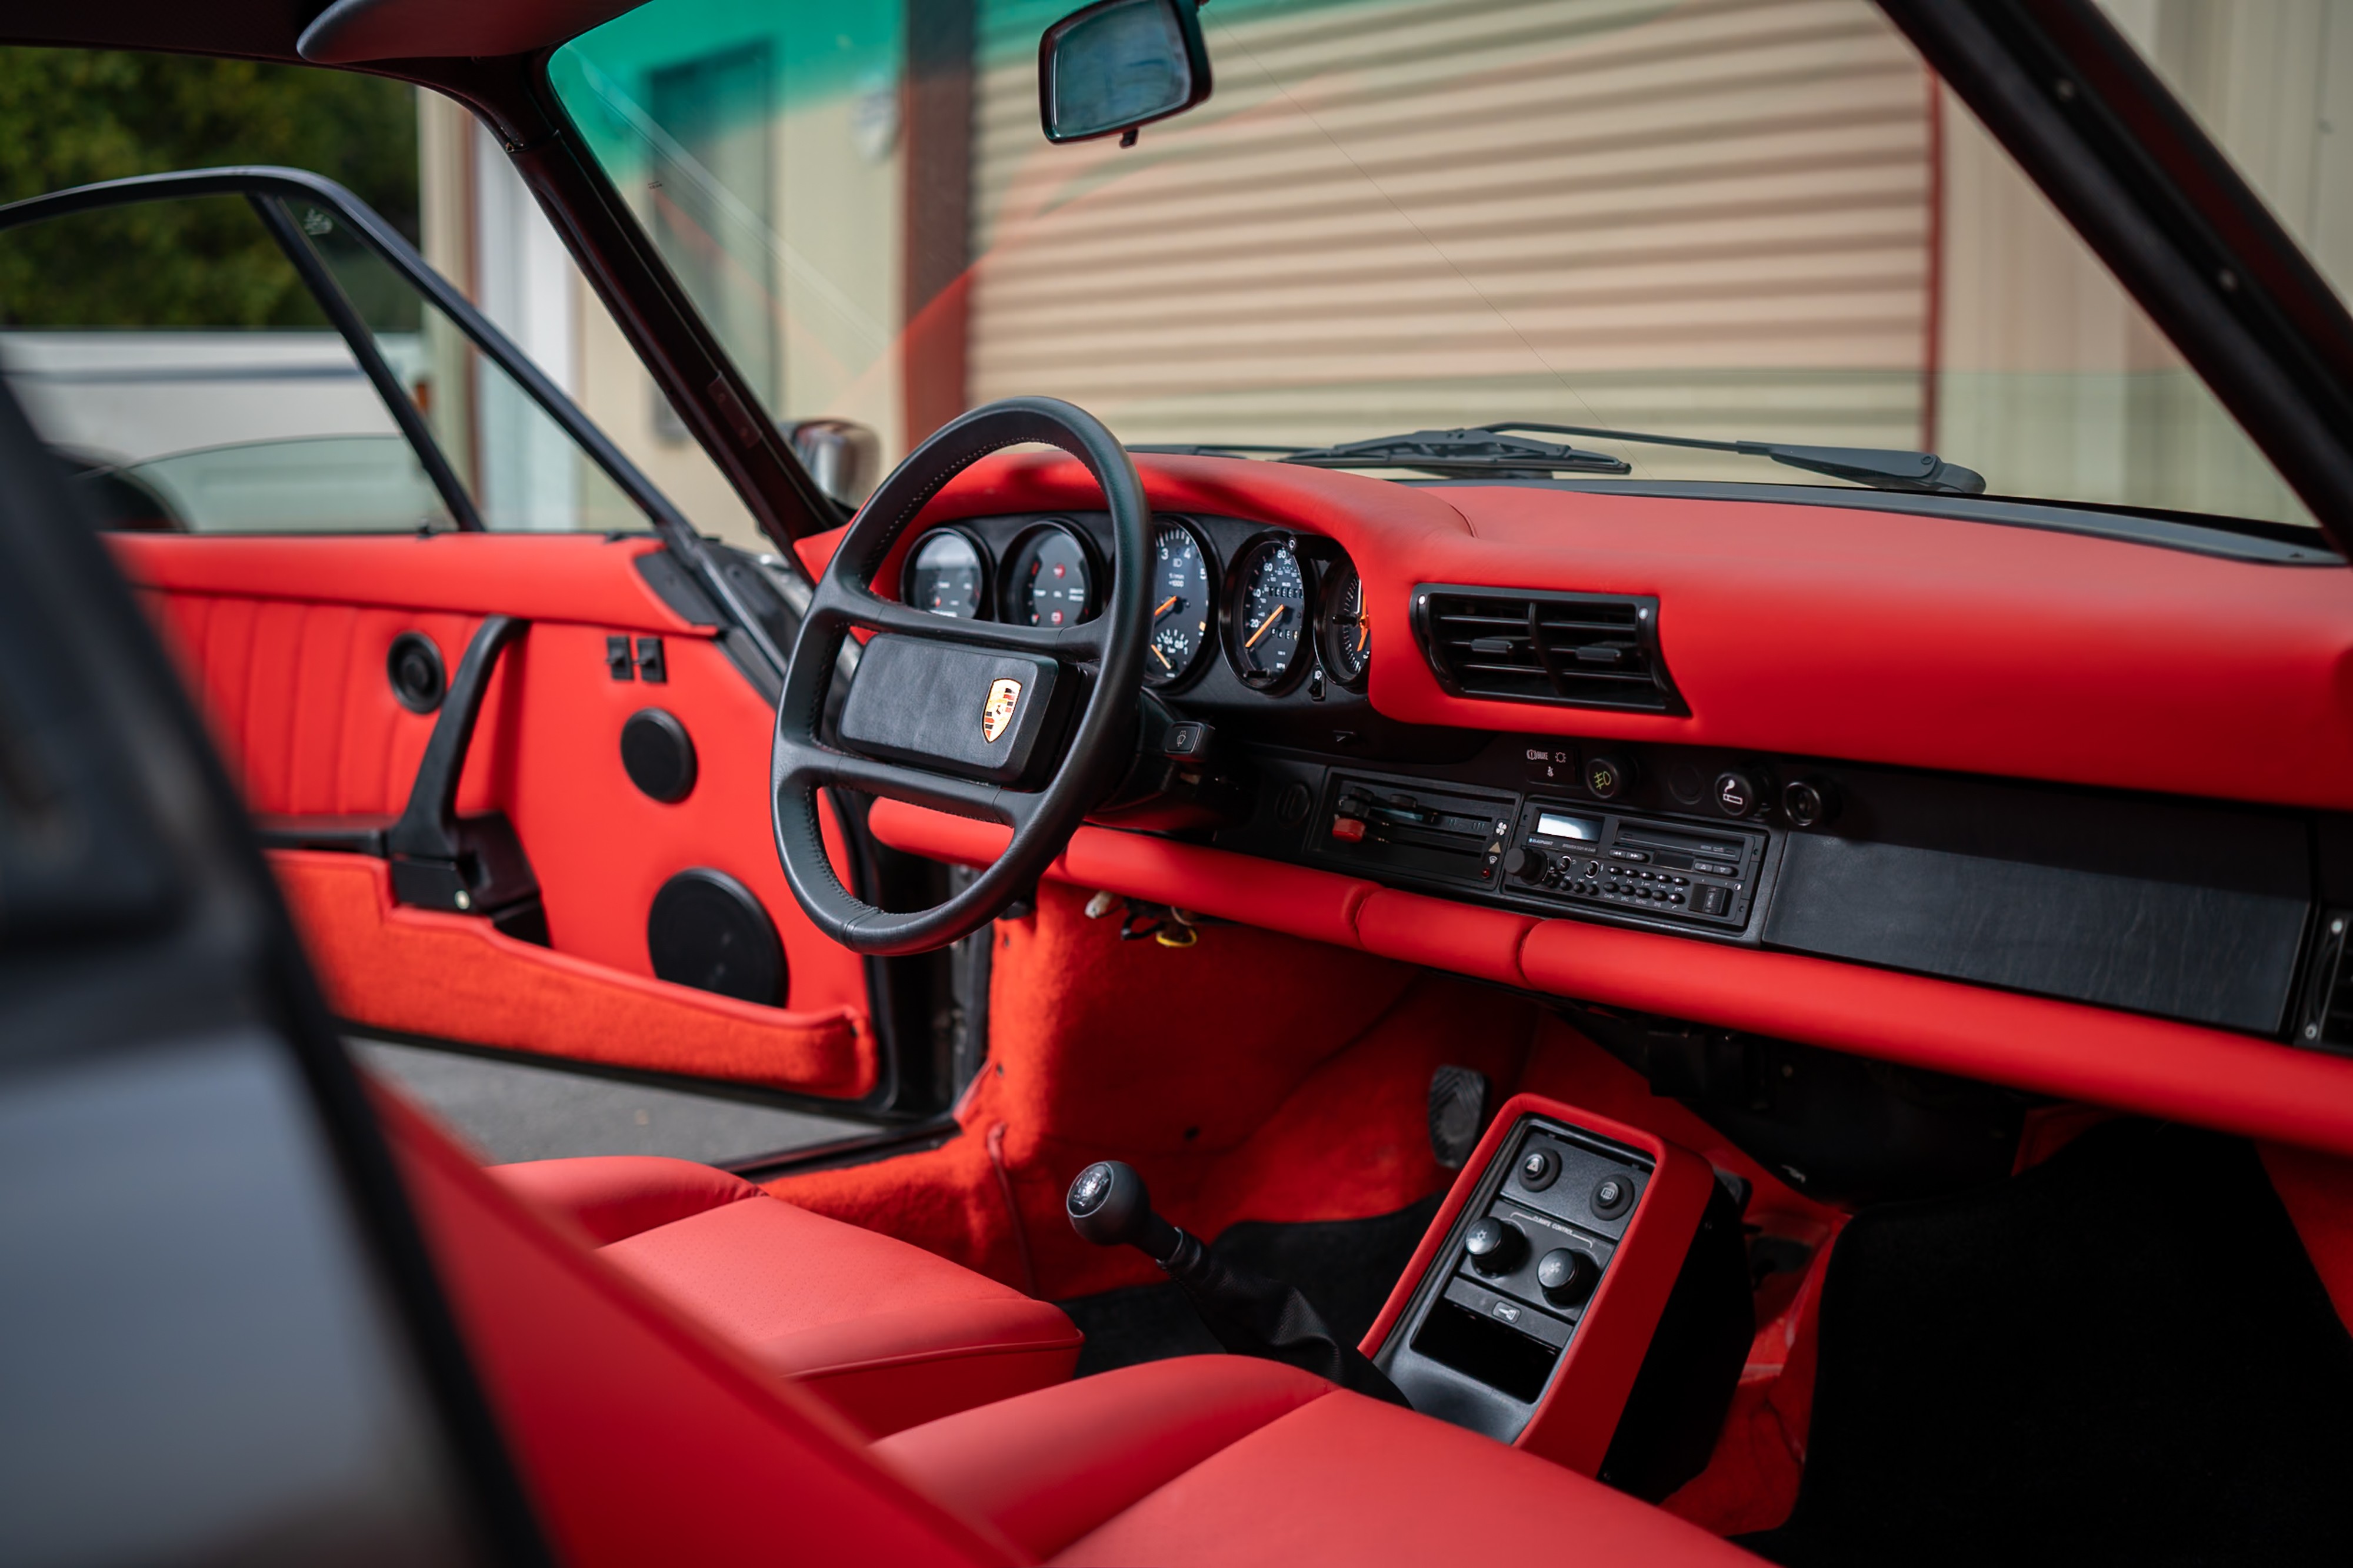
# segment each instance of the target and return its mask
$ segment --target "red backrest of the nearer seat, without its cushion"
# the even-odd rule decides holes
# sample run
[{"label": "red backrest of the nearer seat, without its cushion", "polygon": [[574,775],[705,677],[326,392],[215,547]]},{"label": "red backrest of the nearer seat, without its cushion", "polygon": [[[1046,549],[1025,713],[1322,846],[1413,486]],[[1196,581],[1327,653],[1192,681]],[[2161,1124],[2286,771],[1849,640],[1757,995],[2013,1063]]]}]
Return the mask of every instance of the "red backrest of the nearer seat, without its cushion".
[{"label": "red backrest of the nearer seat, without its cushion", "polygon": [[1016,1563],[835,1415],[600,1265],[424,1114],[379,1117],[442,1288],[567,1563]]}]

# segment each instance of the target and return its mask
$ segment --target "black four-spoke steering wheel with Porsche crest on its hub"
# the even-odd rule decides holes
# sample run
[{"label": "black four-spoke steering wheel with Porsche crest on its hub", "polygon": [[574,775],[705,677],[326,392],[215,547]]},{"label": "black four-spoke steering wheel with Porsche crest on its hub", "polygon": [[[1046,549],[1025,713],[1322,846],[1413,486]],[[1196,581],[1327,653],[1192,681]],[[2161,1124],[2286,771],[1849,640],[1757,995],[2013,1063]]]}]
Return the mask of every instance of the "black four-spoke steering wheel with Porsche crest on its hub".
[{"label": "black four-spoke steering wheel with Porsche crest on its hub", "polygon": [[[1104,611],[1033,628],[951,621],[875,597],[882,557],[932,496],[991,451],[1024,442],[1061,447],[1104,489],[1113,541]],[[1101,421],[1054,397],[1005,397],[941,425],[849,520],[800,618],[769,757],[776,858],[819,931],[852,952],[927,952],[986,926],[1038,884],[1127,764],[1151,625],[1148,517],[1136,465]],[[875,637],[828,743],[833,661],[854,625]],[[1014,837],[948,903],[885,912],[833,875],[816,825],[821,788],[1007,823]]]}]

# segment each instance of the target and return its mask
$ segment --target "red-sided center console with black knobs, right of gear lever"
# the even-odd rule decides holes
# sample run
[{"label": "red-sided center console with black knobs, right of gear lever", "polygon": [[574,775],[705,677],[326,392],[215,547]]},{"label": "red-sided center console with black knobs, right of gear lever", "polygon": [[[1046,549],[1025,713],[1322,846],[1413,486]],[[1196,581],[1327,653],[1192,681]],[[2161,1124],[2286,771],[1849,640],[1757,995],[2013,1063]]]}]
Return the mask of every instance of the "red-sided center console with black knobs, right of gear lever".
[{"label": "red-sided center console with black knobs, right of gear lever", "polygon": [[1518,1095],[1362,1349],[1424,1415],[1664,1497],[1706,1467],[1753,1333],[1739,1201],[1708,1161]]}]

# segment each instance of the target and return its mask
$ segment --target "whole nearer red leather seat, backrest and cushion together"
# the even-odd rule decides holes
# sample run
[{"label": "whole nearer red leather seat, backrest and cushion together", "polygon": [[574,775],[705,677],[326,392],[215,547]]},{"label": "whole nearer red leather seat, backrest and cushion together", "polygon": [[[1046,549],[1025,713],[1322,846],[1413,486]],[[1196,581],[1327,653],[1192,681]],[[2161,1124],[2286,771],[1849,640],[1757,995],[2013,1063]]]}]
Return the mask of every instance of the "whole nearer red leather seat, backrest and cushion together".
[{"label": "whole nearer red leather seat, backrest and cushion together", "polygon": [[386,1103],[384,1121],[482,1389],[574,1568],[1758,1561],[1489,1439],[1233,1356],[1134,1366],[866,1443],[595,1267],[421,1117]]}]

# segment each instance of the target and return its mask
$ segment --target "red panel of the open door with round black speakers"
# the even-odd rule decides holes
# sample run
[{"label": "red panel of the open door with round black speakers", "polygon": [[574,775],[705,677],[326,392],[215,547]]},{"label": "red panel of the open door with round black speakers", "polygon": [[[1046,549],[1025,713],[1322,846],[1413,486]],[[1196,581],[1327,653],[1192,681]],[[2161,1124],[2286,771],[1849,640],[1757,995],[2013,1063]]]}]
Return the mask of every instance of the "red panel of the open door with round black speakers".
[{"label": "red panel of the open door with round black speakers", "polygon": [[[487,931],[482,940],[456,940],[485,922],[419,922],[421,912],[391,905],[379,912],[351,877],[315,865],[320,856],[278,856],[329,992],[348,1016],[824,1095],[856,1095],[873,1084],[864,966],[809,926],[776,867],[769,705],[708,628],[689,625],[645,588],[635,559],[656,548],[652,541],[555,534],[113,543],[200,693],[247,802],[268,816],[398,813],[433,715],[409,712],[393,696],[393,639],[428,635],[454,672],[485,614],[532,623],[485,693],[459,811],[504,811],[515,825],[546,903],[548,950],[487,940]],[[659,635],[668,679],[614,679],[605,663],[609,635]],[[621,766],[621,724],[640,708],[668,710],[694,741],[696,783],[678,804],[642,795]],[[652,978],[647,910],[656,889],[687,867],[727,872],[767,907],[788,971],[784,1009]],[[551,950],[567,961],[551,964]],[[395,952],[416,969],[393,964]],[[598,983],[598,971],[609,980]],[[402,973],[407,987],[438,994],[402,994]],[[621,978],[633,985],[616,987]],[[487,1006],[492,997],[501,1004]],[[520,997],[544,1006],[504,1001]],[[619,1009],[612,1027],[595,1025],[598,1009]],[[760,1039],[762,1018],[774,1039]]]}]

